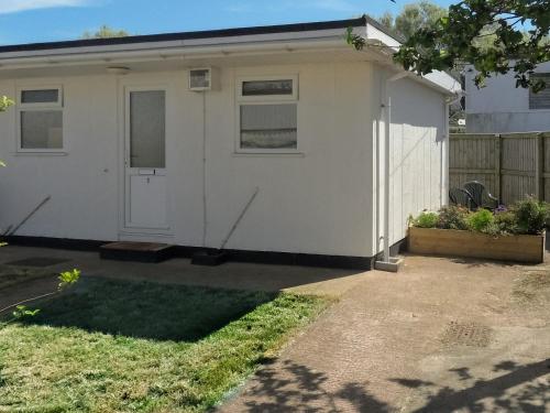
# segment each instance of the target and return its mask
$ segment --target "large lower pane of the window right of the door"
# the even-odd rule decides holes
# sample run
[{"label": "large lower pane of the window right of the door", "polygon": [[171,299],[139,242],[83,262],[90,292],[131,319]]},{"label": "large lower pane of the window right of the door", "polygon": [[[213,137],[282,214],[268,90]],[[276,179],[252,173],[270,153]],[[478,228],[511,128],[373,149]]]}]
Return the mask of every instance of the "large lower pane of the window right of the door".
[{"label": "large lower pane of the window right of the door", "polygon": [[297,112],[293,105],[242,105],[242,149],[297,149]]}]

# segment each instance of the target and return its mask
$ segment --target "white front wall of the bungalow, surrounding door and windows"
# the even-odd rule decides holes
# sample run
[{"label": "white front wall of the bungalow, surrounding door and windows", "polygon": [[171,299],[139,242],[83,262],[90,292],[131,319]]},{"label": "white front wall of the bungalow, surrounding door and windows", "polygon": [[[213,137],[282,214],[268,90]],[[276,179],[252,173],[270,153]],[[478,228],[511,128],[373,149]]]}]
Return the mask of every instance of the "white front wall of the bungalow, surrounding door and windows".
[{"label": "white front wall of the bungalow, surrounding door and windows", "polygon": [[[301,155],[234,154],[238,76],[299,75]],[[373,256],[372,66],[369,63],[223,68],[207,94],[207,247],[220,247],[260,187],[227,248]],[[18,154],[15,111],[0,115],[0,230],[16,225],[46,195],[21,236],[118,240],[122,232],[121,88],[166,86],[166,151],[173,239],[202,240],[202,96],[185,70],[0,80],[18,87],[63,85],[66,155]],[[422,89],[419,87],[419,89]],[[128,233],[123,238],[131,238]],[[135,237],[135,239],[141,239]]]}]

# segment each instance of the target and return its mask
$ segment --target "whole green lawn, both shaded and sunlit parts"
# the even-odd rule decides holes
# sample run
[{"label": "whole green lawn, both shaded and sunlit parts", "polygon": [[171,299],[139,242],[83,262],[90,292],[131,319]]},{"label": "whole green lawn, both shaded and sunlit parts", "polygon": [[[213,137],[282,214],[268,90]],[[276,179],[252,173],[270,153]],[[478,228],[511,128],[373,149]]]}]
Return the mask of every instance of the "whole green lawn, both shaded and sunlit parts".
[{"label": "whole green lawn, both shaded and sunlit parts", "polygon": [[82,279],[0,326],[0,412],[202,412],[327,300]]}]

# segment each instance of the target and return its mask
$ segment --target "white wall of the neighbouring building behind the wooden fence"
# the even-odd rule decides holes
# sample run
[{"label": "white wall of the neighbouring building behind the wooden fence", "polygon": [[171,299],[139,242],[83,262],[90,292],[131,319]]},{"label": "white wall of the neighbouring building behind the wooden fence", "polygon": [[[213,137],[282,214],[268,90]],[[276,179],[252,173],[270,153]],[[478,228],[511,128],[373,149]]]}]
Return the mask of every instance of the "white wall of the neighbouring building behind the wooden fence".
[{"label": "white wall of the neighbouring building behind the wooden fence", "polygon": [[[536,72],[550,72],[550,62]],[[550,130],[550,110],[529,109],[529,90],[516,88],[514,73],[493,76],[486,86],[474,84],[475,70],[466,68],[466,131],[469,133],[512,133]]]}]

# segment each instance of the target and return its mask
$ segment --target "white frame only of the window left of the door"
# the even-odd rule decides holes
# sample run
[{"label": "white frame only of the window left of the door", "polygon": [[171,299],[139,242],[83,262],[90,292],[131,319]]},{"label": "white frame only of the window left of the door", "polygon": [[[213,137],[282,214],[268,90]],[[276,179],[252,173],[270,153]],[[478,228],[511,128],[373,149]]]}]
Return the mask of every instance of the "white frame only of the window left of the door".
[{"label": "white frame only of the window left of the door", "polygon": [[[23,104],[22,96],[23,91],[26,90],[57,90],[57,101],[55,102],[40,102],[40,104]],[[22,141],[22,124],[21,124],[21,112],[30,112],[30,111],[61,111],[62,112],[62,148],[23,148]],[[18,88],[18,101],[16,101],[16,151],[19,153],[53,153],[59,154],[66,152],[66,143],[65,143],[65,110],[63,105],[63,86],[61,85],[51,85],[51,86],[22,86]]]}]

